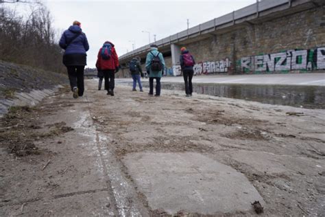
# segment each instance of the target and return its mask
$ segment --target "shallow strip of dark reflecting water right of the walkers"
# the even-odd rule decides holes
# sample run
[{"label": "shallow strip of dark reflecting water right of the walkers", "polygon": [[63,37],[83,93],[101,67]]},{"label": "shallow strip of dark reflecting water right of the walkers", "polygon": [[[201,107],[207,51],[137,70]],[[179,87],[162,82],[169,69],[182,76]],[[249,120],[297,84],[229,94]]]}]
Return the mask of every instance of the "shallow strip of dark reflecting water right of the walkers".
[{"label": "shallow strip of dark reflecting water right of the walkers", "polygon": [[[162,89],[184,91],[183,83],[162,82]],[[148,87],[147,82],[143,82]],[[261,84],[193,84],[193,91],[265,104],[325,109],[325,87]]]}]

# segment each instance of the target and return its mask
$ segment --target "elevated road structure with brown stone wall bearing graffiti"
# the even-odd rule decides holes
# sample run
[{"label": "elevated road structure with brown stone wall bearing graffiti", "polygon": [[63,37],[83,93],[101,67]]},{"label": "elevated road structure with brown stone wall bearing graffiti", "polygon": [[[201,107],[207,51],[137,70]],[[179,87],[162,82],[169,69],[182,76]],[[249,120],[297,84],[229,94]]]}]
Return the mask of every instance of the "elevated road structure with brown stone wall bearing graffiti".
[{"label": "elevated road structure with brown stone wall bearing graffiti", "polygon": [[[325,2],[257,1],[245,8],[156,41],[166,62],[165,75],[179,76],[180,47],[195,56],[196,75],[207,73],[300,73],[325,69]],[[141,63],[149,44],[119,58],[118,77],[128,62]]]}]

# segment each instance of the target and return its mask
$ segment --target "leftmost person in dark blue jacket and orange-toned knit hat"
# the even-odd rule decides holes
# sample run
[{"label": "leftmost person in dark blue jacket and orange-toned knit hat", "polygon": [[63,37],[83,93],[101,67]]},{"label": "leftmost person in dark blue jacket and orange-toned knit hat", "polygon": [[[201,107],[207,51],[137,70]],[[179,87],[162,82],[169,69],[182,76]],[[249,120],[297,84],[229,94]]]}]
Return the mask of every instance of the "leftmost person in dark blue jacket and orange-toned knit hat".
[{"label": "leftmost person in dark blue jacket and orange-toned knit hat", "polygon": [[63,64],[67,67],[73,98],[84,95],[84,67],[86,52],[89,49],[86,34],[82,32],[79,21],[65,30],[60,38],[60,47],[65,50]]}]

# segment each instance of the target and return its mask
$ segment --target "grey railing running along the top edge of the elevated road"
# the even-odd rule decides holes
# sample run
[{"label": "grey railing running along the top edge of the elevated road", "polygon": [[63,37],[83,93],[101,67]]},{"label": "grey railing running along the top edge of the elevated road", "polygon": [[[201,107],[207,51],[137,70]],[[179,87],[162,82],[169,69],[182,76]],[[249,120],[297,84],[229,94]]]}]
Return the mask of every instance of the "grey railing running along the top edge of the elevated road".
[{"label": "grey railing running along the top edge of the elevated road", "polygon": [[[156,41],[156,45],[162,46],[162,45],[169,45],[173,41],[179,41],[182,38],[188,38],[189,36],[193,34],[201,34],[205,30],[210,30],[212,28],[216,28],[220,25],[224,25],[226,23],[235,23],[236,20],[242,19],[246,16],[251,16],[254,14],[257,14],[259,12],[263,12],[264,10],[268,10],[270,8],[276,8],[277,6],[283,5],[283,4],[289,4],[291,5],[291,1],[293,0],[265,0],[265,1],[258,1],[256,0],[256,3],[252,5],[248,5],[245,8],[241,8],[239,10],[235,10],[234,12],[231,12],[229,14],[225,14],[223,16],[219,16],[218,18],[215,18],[213,20],[207,21],[205,23],[201,23],[200,25],[196,25],[194,27],[189,28],[188,30],[184,30],[182,32],[178,32],[176,34],[173,34],[171,36],[168,36],[166,38],[160,39]],[[124,54],[119,57],[120,60],[123,60],[123,58],[128,58],[131,56],[135,56],[136,54],[141,54],[142,52],[147,51],[147,49],[150,48],[150,45],[145,45],[143,47],[139,47],[135,49],[132,52],[128,52],[127,54]]]}]

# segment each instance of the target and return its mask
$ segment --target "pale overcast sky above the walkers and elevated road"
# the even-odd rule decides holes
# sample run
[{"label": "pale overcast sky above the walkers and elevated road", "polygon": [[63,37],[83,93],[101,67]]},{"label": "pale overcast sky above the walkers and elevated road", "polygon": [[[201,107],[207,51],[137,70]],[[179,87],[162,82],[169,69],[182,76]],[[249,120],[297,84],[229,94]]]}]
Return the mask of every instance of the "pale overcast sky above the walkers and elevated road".
[{"label": "pale overcast sky above the walkers and elevated road", "polygon": [[256,0],[214,1],[91,1],[91,0],[47,0],[44,1],[53,16],[53,26],[61,35],[73,21],[82,23],[90,49],[87,53],[88,67],[95,67],[97,52],[104,41],[115,44],[121,56],[151,42],[186,30],[216,17],[228,14]]}]

